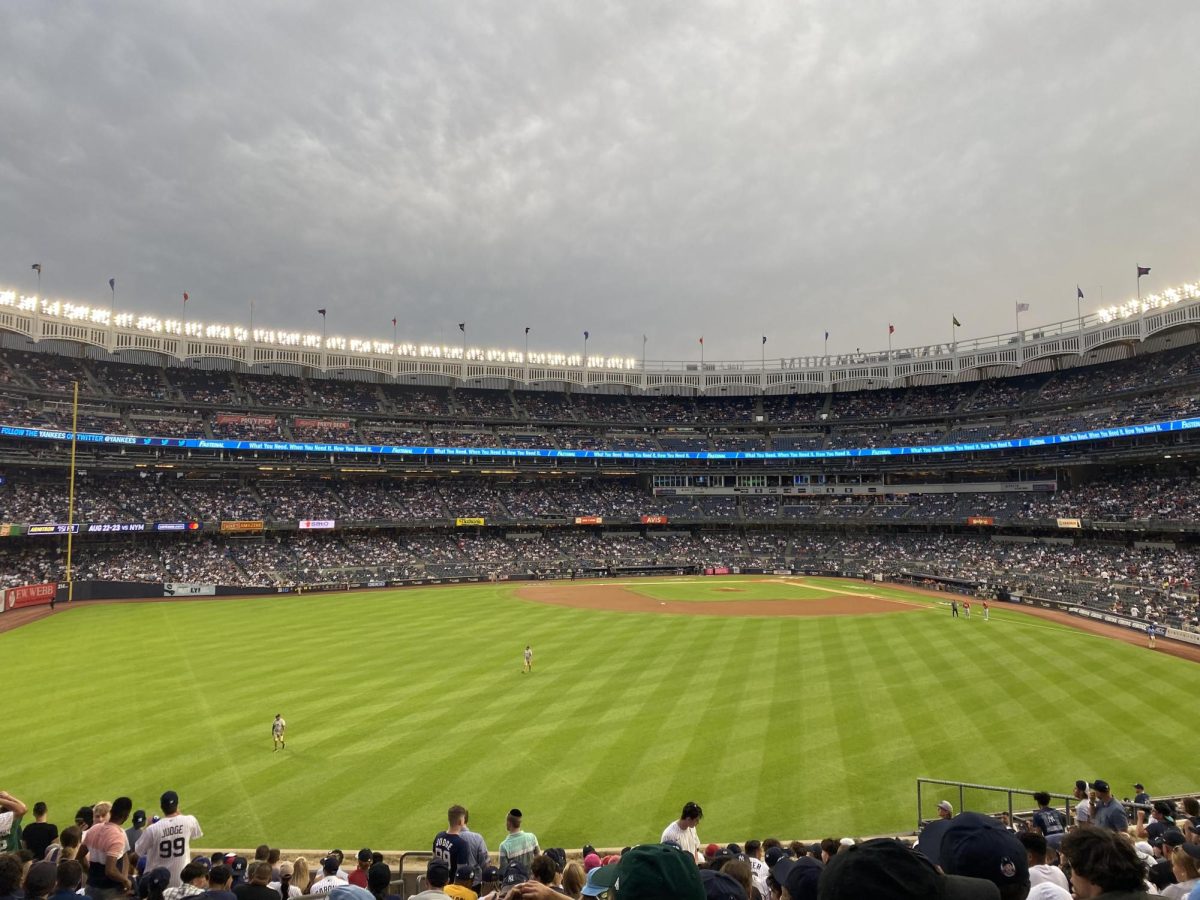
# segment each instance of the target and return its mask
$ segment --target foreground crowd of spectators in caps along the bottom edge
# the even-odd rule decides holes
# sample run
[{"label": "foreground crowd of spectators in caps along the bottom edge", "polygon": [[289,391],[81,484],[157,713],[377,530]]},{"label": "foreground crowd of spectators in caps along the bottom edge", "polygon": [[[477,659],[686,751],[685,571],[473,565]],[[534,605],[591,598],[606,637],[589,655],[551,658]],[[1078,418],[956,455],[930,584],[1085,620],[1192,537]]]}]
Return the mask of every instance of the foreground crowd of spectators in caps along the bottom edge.
[{"label": "foreground crowd of spectators in caps along the bottom edge", "polygon": [[[272,725],[275,751],[287,752],[282,716]],[[546,832],[526,830],[512,809],[505,836],[468,827],[469,812],[450,806],[446,827],[430,850],[414,854],[416,900],[1069,900],[1160,895],[1200,898],[1200,803],[1195,797],[1152,798],[1141,785],[1133,802],[1116,798],[1103,779],[1079,780],[1074,802],[1060,809],[1037,791],[1027,808],[959,811],[942,799],[936,817],[908,839],[828,836],[820,841],[751,838],[744,844],[704,844],[700,804],[683,804],[666,823],[630,824],[637,839],[622,850],[577,851],[551,846]],[[26,804],[0,791],[0,896],[68,900],[398,900],[401,884],[383,852],[368,847],[348,858],[340,850],[310,865],[304,856],[260,844],[202,854],[200,821],[180,810],[166,791],[162,816],[148,821],[130,797],[80,806],[73,823],[53,803]],[[67,803],[71,809],[73,804]],[[146,804],[149,805],[149,804]],[[336,817],[335,817],[336,818]],[[448,823],[448,824],[446,824]],[[60,829],[61,824],[61,829]],[[661,833],[660,833],[661,828]],[[826,830],[826,829],[822,829]],[[179,835],[160,840],[163,833]],[[211,840],[211,838],[206,838]],[[642,842],[637,842],[642,841]],[[409,850],[408,853],[413,851]],[[406,853],[406,856],[408,856]],[[392,894],[398,889],[400,894]]]}]

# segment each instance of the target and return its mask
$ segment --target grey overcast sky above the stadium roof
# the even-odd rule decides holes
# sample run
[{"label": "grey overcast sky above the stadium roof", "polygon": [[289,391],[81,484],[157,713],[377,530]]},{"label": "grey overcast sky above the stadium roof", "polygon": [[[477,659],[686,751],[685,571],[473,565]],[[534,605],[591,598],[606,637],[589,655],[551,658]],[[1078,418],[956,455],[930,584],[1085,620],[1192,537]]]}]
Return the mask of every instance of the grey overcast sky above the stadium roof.
[{"label": "grey overcast sky above the stadium roof", "polygon": [[0,286],[652,359],[1200,277],[1200,4],[4,2]]}]

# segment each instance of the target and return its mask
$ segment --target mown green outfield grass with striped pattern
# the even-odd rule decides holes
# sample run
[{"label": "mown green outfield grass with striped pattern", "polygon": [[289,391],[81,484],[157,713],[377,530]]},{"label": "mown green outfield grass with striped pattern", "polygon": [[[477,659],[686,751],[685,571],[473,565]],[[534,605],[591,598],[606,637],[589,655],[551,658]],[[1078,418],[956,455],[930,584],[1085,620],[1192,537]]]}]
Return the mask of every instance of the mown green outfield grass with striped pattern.
[{"label": "mown green outfield grass with striped pattern", "polygon": [[199,845],[424,848],[452,803],[493,848],[511,806],[546,846],[624,845],[689,799],[706,841],[818,838],[911,829],[918,775],[1195,787],[1187,742],[1138,749],[1180,721],[1144,685],[1194,664],[1004,610],[691,618],[490,584],[80,605],[0,655],[0,787],[60,826],[174,788]]}]

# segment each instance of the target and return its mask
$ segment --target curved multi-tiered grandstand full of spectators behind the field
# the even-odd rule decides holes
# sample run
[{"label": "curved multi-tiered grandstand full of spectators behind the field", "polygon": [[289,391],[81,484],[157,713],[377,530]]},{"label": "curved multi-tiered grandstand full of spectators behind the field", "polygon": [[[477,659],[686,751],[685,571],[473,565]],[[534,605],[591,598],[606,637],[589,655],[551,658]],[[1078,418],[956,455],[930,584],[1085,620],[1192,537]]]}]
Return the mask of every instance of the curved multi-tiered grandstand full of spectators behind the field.
[{"label": "curved multi-tiered grandstand full of spectators behind the field", "polygon": [[1187,655],[1200,299],[1184,294],[1015,336],[1015,358],[1000,336],[737,383],[722,362],[497,373],[378,352],[367,372],[332,347],[168,346],[161,323],[68,331],[61,307],[0,306],[0,587],[83,606],[808,574],[1156,626]]}]

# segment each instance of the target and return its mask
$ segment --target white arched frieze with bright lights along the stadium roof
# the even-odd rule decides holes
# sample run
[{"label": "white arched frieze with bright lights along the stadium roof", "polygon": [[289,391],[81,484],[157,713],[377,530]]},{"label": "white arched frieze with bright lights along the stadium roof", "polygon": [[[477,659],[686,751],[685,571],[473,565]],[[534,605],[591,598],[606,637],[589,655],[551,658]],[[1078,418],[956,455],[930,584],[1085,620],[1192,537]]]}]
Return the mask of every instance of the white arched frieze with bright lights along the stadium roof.
[{"label": "white arched frieze with bright lights along the stadium roof", "polygon": [[[956,380],[980,370],[1014,372],[1046,359],[1085,356],[1100,348],[1144,342],[1200,324],[1200,284],[1187,283],[1099,312],[1034,329],[967,341],[878,352],[782,356],[768,360],[647,360],[625,355],[522,353],[347,338],[233,324],[160,318],[0,290],[0,329],[35,343],[70,341],[110,354],[155,353],[179,361],[226,360],[238,366],[300,366],[356,371],[392,380],[503,382],[641,392],[772,394],[884,389],[918,379]],[[644,348],[643,348],[644,353]]]}]

